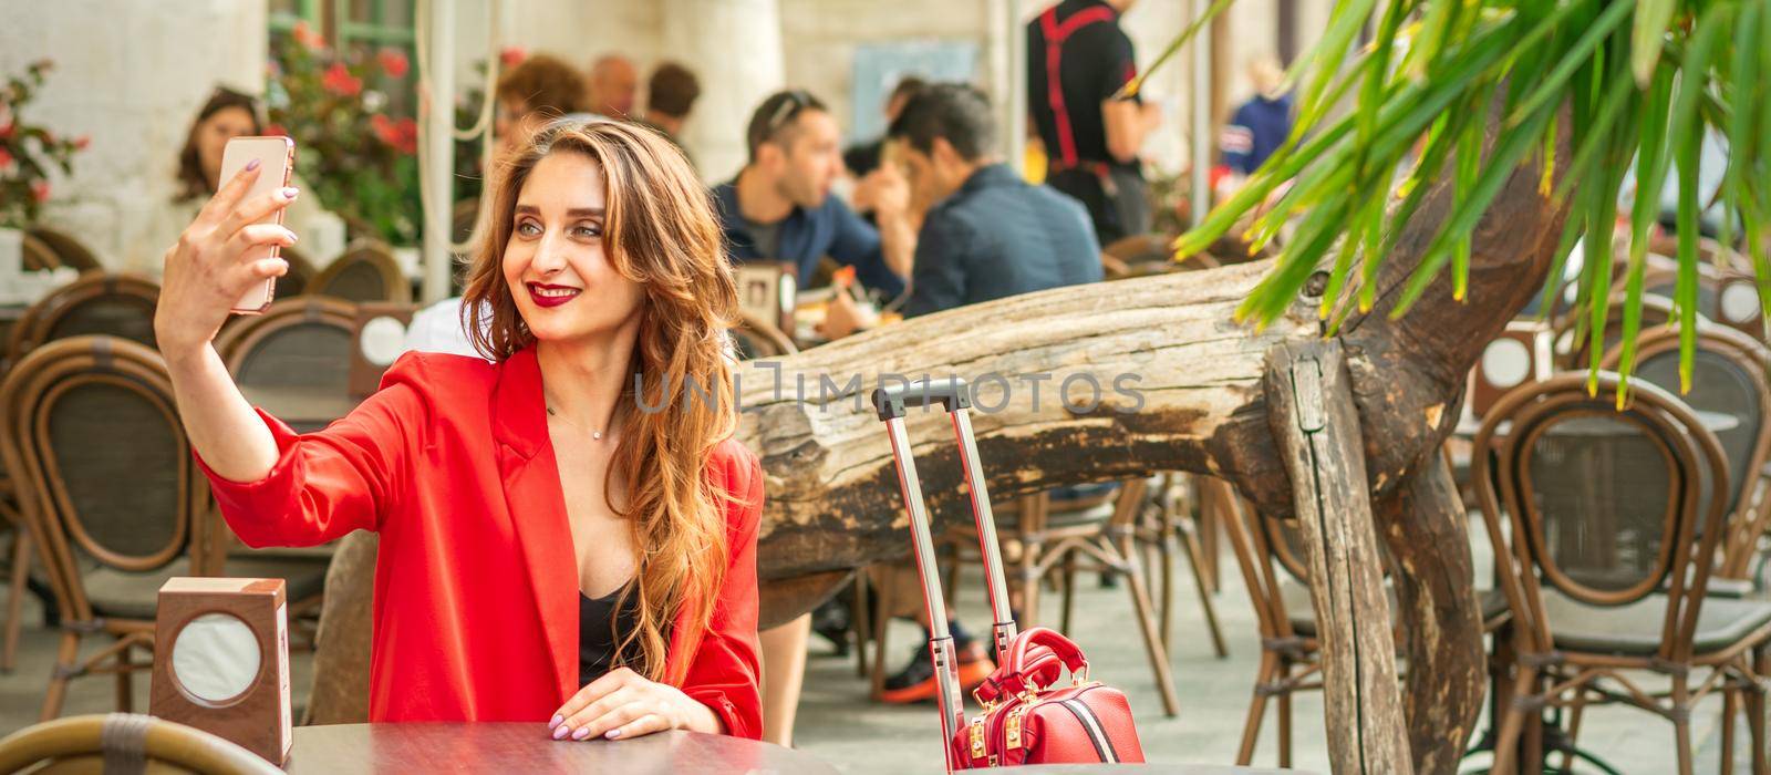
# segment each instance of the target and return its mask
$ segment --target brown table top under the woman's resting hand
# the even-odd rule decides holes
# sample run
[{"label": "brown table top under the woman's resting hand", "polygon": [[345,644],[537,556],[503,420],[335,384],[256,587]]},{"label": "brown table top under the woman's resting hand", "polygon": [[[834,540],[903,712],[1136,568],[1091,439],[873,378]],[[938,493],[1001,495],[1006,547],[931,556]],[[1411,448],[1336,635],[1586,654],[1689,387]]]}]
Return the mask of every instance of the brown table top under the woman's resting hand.
[{"label": "brown table top under the woman's resting hand", "polygon": [[[935,764],[939,768],[939,763]],[[799,750],[700,733],[558,741],[540,722],[296,727],[294,775],[411,771],[836,773]]]}]

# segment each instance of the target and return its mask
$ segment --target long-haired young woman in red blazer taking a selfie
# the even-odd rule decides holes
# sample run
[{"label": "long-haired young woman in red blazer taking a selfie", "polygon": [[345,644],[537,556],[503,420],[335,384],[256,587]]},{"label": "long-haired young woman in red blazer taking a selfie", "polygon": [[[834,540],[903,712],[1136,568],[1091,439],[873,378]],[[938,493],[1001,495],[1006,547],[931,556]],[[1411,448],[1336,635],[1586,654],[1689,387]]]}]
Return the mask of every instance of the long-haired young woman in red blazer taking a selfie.
[{"label": "long-haired young woman in red blazer taking a selfie", "polygon": [[763,478],[731,441],[737,288],[682,154],[616,122],[540,133],[489,189],[462,304],[491,310],[468,327],[485,357],[407,354],[306,435],[255,412],[211,347],[283,271],[246,251],[296,241],[251,225],[298,196],[243,200],[255,173],[166,253],[156,333],[241,540],[381,533],[370,720],[758,738]]}]

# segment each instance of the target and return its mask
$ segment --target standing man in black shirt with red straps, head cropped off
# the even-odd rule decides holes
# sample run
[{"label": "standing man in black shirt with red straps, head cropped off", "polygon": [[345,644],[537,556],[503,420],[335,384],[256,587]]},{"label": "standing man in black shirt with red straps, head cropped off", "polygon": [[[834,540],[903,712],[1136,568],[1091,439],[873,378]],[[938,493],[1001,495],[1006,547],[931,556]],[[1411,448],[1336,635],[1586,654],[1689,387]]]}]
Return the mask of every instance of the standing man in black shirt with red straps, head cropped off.
[{"label": "standing man in black shirt with red straps, head cropped off", "polygon": [[1149,230],[1137,149],[1156,104],[1112,99],[1137,76],[1119,14],[1133,0],[1063,0],[1027,25],[1027,108],[1050,159],[1047,184],[1075,196],[1100,244]]}]

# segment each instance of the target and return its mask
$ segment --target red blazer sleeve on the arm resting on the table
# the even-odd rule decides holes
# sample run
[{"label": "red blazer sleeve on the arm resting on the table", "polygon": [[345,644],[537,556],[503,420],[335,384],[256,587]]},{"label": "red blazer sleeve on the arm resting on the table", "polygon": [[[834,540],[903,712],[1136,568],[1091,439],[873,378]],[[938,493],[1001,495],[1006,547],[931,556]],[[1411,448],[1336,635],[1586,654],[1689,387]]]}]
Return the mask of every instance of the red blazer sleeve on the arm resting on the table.
[{"label": "red blazer sleeve on the arm resting on the table", "polygon": [[763,511],[762,464],[749,453],[731,458],[731,561],[707,635],[694,651],[682,692],[719,717],[726,734],[762,740],[763,699],[756,637],[756,531]]}]

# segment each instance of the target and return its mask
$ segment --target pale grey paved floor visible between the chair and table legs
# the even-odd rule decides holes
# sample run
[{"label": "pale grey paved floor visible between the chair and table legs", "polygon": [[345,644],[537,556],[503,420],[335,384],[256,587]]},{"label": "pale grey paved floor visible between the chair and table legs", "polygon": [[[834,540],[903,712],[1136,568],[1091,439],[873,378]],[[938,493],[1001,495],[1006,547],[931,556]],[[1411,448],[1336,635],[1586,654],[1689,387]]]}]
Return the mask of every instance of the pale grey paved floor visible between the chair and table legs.
[{"label": "pale grey paved floor visible between the chair and table legs", "polygon": [[[1479,566],[1482,563],[1486,561],[1479,559]],[[1233,559],[1224,557],[1224,589],[1217,595],[1218,616],[1231,651],[1224,660],[1211,655],[1190,575],[1181,573],[1179,577],[1176,646],[1171,655],[1181,699],[1178,718],[1162,715],[1126,591],[1100,589],[1091,577],[1086,579],[1089,582],[1082,584],[1077,596],[1073,637],[1091,656],[1094,678],[1121,687],[1132,695],[1132,710],[1149,759],[1203,764],[1234,761],[1259,648],[1254,616]],[[958,595],[965,621],[986,621],[981,589],[976,575],[969,575],[967,586]],[[1041,612],[1045,621],[1056,621],[1057,596],[1045,596]],[[12,674],[0,676],[0,734],[35,720],[55,656],[55,635],[39,626],[43,619],[35,602],[30,603],[25,621],[30,626],[25,630],[19,665]],[[894,665],[909,658],[916,635],[917,632],[910,625],[894,626],[889,653]],[[310,671],[312,658],[296,655],[298,704],[305,701]],[[66,713],[112,710],[113,687],[110,678],[74,681]],[[868,702],[866,694],[866,681],[855,678],[854,658],[831,656],[827,644],[815,635],[806,692],[799,710],[797,745],[850,773],[939,771],[940,759],[935,741],[939,720],[933,706],[880,706]],[[145,710],[147,676],[136,679],[135,701],[136,710]],[[1695,740],[1698,741],[1697,771],[1718,770],[1718,718],[1720,701],[1711,701],[1693,718]],[[1305,694],[1298,699],[1295,725],[1295,766],[1328,771],[1319,695]],[[1741,727],[1739,740],[1743,743],[1746,740],[1744,727]],[[1629,708],[1589,711],[1580,743],[1626,773],[1674,771],[1672,725],[1643,711]],[[1744,750],[1739,750],[1737,756],[1744,761]],[[1268,717],[1254,761],[1272,766],[1273,757],[1273,724]],[[1481,759],[1470,761],[1470,766],[1479,764],[1482,764]]]}]

